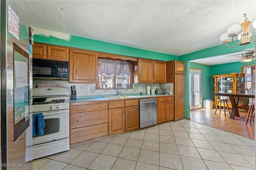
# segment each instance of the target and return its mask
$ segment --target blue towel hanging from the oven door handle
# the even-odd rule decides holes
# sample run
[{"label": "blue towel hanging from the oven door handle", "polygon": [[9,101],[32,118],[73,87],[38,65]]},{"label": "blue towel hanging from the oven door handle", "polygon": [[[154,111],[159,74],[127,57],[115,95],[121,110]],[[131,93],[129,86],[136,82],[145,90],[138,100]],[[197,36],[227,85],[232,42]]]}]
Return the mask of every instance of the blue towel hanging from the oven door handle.
[{"label": "blue towel hanging from the oven door handle", "polygon": [[44,115],[43,113],[33,114],[33,137],[44,134]]}]

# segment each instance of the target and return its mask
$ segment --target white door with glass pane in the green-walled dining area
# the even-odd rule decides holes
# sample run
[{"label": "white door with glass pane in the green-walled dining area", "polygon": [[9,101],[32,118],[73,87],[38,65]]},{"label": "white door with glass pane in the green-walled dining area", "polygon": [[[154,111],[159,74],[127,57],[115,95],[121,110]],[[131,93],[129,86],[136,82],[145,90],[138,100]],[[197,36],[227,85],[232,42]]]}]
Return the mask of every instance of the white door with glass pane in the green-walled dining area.
[{"label": "white door with glass pane in the green-walled dining area", "polygon": [[190,69],[190,110],[201,108],[201,70]]}]

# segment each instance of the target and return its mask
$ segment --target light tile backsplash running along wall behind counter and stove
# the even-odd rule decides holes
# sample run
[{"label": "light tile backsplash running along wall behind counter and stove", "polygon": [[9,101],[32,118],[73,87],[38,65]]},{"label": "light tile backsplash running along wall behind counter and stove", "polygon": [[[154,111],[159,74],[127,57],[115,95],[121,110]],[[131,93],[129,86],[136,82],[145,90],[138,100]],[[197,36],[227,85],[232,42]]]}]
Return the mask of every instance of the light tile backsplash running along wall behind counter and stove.
[{"label": "light tile backsplash running along wall behind counter and stove", "polygon": [[69,83],[66,81],[33,81],[33,88],[38,84],[60,84],[60,87],[76,86],[76,96],[96,96],[96,95],[115,95],[116,91],[121,90],[123,94],[130,93],[146,93],[146,86],[149,85],[150,89],[166,89],[167,93],[173,91],[173,83],[133,83],[132,89],[96,89],[95,83]]}]

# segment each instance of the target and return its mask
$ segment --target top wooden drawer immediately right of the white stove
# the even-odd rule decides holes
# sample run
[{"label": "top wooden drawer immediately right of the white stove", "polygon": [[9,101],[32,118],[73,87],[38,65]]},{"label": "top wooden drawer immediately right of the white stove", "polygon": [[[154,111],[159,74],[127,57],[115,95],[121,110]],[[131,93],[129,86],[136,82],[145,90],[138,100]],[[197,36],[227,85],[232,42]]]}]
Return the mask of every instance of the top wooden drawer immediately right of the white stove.
[{"label": "top wooden drawer immediately right of the white stove", "polygon": [[91,111],[102,111],[108,109],[108,103],[99,103],[92,105],[83,105],[83,106],[72,106],[69,108],[70,114],[74,113],[84,113]]}]

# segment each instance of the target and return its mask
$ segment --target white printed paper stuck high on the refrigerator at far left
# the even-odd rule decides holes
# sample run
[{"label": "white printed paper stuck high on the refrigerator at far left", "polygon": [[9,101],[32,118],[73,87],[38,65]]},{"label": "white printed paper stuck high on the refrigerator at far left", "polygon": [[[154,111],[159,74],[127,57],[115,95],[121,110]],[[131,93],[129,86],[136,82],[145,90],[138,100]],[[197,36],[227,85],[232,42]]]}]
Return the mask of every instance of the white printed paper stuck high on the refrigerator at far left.
[{"label": "white printed paper stuck high on the refrigerator at far left", "polygon": [[20,18],[15,14],[12,8],[8,5],[8,32],[15,38],[20,40]]}]

